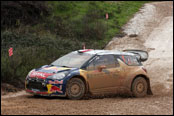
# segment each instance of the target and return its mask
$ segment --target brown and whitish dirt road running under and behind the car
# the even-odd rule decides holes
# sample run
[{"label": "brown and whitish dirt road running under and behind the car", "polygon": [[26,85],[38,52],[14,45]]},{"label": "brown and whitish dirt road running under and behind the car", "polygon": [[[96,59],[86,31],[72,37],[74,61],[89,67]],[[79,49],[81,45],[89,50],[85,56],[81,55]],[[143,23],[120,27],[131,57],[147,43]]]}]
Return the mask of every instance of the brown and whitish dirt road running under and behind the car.
[{"label": "brown and whitish dirt road running under and behind the car", "polygon": [[[1,96],[1,114],[173,114],[173,2],[146,4],[124,27],[127,36],[113,38],[105,49],[149,51],[144,63],[153,96],[112,96],[89,100],[33,97],[24,91]],[[136,37],[130,37],[137,34]]]}]

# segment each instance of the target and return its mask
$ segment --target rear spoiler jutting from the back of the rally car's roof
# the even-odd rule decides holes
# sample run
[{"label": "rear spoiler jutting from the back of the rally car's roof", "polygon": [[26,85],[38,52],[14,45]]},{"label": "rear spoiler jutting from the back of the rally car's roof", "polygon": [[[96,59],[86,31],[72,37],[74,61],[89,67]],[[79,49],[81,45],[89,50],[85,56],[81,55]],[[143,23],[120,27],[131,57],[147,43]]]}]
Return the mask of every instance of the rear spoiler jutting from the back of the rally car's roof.
[{"label": "rear spoiler jutting from the back of the rally car's roof", "polygon": [[123,50],[123,52],[129,52],[129,53],[134,53],[136,55],[136,57],[141,61],[144,62],[148,59],[149,54],[147,51],[143,51],[143,50],[136,50],[136,49],[126,49]]}]

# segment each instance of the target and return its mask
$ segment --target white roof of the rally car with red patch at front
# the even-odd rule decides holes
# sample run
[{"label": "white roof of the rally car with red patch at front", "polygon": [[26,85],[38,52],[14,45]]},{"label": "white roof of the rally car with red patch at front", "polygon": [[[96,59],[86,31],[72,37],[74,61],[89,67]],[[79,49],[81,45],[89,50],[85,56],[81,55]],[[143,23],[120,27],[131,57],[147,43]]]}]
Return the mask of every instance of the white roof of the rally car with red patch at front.
[{"label": "white roof of the rally car with red patch at front", "polygon": [[78,53],[87,53],[87,54],[98,54],[98,55],[107,55],[107,54],[115,54],[115,55],[135,55],[133,53],[122,52],[117,50],[92,50],[92,49],[85,49],[85,50],[78,50],[75,51]]}]

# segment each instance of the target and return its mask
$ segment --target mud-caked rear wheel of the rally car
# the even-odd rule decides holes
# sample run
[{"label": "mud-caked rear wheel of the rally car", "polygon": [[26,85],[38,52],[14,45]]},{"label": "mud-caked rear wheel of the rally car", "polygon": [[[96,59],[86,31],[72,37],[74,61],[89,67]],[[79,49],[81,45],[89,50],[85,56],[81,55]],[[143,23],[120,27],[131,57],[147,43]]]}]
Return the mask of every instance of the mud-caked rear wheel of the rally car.
[{"label": "mud-caked rear wheel of the rally car", "polygon": [[147,81],[143,77],[138,77],[133,81],[132,93],[134,97],[144,97],[147,95]]}]

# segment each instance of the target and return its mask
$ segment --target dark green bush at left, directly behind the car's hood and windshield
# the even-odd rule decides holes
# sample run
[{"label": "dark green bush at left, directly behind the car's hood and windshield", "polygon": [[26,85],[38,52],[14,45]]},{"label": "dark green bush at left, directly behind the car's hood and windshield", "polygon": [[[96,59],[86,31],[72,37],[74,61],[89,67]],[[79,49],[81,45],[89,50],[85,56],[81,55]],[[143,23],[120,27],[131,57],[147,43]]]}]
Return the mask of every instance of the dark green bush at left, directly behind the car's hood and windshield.
[{"label": "dark green bush at left, directly behind the car's hood and windshield", "polygon": [[[8,31],[1,33],[1,41],[1,77],[3,82],[9,83],[15,80],[24,82],[31,69],[50,64],[63,54],[81,48],[78,43],[58,36],[39,38],[32,34],[16,35]],[[11,57],[8,56],[10,46],[13,46]]]}]

